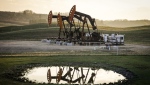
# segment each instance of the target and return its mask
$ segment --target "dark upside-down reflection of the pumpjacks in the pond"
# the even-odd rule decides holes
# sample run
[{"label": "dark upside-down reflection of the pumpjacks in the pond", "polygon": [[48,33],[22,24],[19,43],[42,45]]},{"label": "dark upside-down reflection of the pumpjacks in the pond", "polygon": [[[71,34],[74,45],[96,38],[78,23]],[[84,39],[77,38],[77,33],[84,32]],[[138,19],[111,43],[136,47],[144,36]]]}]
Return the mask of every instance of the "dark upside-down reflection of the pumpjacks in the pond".
[{"label": "dark upside-down reflection of the pumpjacks in the pond", "polygon": [[[90,68],[79,68],[78,67],[68,67],[69,69],[64,73],[64,69],[67,67],[59,67],[59,71],[57,72],[57,76],[51,76],[51,69],[48,69],[47,71],[47,80],[49,83],[51,83],[52,79],[56,79],[56,83],[59,83],[60,80],[66,81],[67,83],[79,83],[79,84],[85,84],[88,78]],[[86,70],[86,74],[84,74]],[[93,72],[91,73],[91,76],[89,77],[89,80],[87,83],[93,83],[96,78],[97,71],[99,69],[91,69]],[[64,75],[63,75],[64,73]],[[76,75],[76,77],[74,77]]]}]

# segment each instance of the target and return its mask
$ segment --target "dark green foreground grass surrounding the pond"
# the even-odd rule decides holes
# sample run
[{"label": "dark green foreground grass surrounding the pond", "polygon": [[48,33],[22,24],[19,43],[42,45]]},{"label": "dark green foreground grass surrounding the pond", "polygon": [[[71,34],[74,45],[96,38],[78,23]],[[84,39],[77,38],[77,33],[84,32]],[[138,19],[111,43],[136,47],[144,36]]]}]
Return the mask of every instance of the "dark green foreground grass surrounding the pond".
[{"label": "dark green foreground grass surrounding the pond", "polygon": [[[85,59],[86,58],[86,59]],[[149,56],[69,56],[69,55],[59,55],[59,56],[41,56],[41,57],[30,57],[30,56],[20,56],[20,57],[0,57],[0,75],[6,70],[13,68],[15,66],[25,65],[25,64],[36,64],[36,63],[104,63],[111,64],[115,66],[120,66],[126,68],[133,73],[135,73],[138,78],[134,85],[149,85],[150,81],[150,57]],[[29,83],[22,83],[19,81],[13,81],[5,77],[0,76],[1,85],[34,85]]]}]

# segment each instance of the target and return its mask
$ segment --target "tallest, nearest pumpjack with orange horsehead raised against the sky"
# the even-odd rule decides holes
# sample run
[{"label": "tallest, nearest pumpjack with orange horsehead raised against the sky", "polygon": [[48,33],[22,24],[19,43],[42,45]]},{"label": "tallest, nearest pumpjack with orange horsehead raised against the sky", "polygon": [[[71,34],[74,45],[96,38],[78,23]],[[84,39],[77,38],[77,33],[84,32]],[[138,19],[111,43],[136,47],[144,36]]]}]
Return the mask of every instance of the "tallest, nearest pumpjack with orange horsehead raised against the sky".
[{"label": "tallest, nearest pumpjack with orange horsehead raised against the sky", "polygon": [[[76,19],[80,20],[81,22],[83,22],[82,36],[81,36],[82,41],[85,41],[85,39],[83,37],[84,36],[84,25],[85,24],[87,24],[88,33],[90,35],[91,41],[93,41],[93,40],[94,41],[98,41],[99,40],[100,35],[98,33],[98,29],[97,29],[97,26],[96,26],[95,19],[93,19],[90,15],[87,15],[87,14],[84,14],[84,13],[76,11],[76,5],[74,5],[71,8],[71,11],[69,13],[70,22],[72,22],[71,20],[73,20],[73,18],[76,18]],[[92,25],[93,30],[97,30],[96,32],[93,32],[93,33],[90,32],[89,26],[88,26],[88,23],[87,23],[87,19],[89,20],[90,24]]]}]

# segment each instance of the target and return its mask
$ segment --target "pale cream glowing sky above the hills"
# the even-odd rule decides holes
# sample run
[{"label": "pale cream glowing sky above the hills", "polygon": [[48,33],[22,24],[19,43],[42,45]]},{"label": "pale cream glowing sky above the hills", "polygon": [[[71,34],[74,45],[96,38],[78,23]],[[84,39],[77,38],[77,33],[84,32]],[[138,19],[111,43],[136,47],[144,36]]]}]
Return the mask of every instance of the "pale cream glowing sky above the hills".
[{"label": "pale cream glowing sky above the hills", "polygon": [[35,13],[76,11],[100,20],[150,20],[150,0],[0,0],[0,11]]}]

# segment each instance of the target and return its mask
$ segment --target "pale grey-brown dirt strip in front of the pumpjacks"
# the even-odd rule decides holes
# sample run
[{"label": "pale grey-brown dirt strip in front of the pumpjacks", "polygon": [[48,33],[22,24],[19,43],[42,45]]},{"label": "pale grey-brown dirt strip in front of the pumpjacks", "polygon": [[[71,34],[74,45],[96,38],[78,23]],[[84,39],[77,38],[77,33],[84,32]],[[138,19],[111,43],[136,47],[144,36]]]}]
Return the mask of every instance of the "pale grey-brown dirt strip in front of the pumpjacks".
[{"label": "pale grey-brown dirt strip in front of the pumpjacks", "polygon": [[[108,51],[105,49],[106,46],[66,46],[66,45],[58,45],[58,44],[50,44],[47,42],[41,41],[17,41],[17,40],[3,40],[0,41],[0,53],[28,53],[28,52],[65,52],[65,51],[107,51],[111,52],[116,51],[116,46],[112,46],[111,50]],[[150,46],[142,46],[142,45],[131,45],[126,44],[125,46],[119,46],[119,51],[124,52],[134,52],[137,55],[149,55]],[[133,53],[132,53],[133,54]],[[136,55],[135,54],[135,55]]]}]

